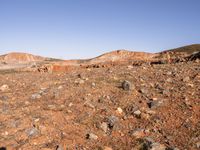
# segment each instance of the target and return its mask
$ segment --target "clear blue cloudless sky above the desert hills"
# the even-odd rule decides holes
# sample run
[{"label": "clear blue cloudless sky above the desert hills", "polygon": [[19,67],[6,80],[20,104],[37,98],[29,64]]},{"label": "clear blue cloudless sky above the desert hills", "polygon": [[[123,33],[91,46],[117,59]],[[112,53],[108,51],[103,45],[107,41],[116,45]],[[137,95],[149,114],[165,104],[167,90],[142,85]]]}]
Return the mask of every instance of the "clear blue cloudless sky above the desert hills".
[{"label": "clear blue cloudless sky above the desert hills", "polygon": [[89,58],[200,43],[200,0],[0,0],[0,54]]}]

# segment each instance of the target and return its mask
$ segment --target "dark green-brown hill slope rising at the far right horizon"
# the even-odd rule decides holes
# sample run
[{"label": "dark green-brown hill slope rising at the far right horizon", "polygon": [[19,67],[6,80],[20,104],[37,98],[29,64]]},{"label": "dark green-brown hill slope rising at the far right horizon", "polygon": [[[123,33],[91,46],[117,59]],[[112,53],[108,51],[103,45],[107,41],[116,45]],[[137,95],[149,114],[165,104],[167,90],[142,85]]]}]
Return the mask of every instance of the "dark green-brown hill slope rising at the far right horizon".
[{"label": "dark green-brown hill slope rising at the far right horizon", "polygon": [[183,46],[183,47],[170,49],[170,50],[166,50],[166,51],[185,52],[185,53],[188,53],[188,54],[192,54],[194,52],[200,52],[200,44],[193,44],[193,45]]}]

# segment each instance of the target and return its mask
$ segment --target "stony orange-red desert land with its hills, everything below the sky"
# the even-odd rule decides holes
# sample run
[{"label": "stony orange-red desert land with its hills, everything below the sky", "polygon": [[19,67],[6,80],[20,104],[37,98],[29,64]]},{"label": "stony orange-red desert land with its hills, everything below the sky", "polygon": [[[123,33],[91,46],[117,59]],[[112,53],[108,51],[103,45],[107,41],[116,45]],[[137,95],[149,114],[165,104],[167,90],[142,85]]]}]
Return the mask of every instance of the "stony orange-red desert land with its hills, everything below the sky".
[{"label": "stony orange-red desert land with its hills, everything below the sky", "polygon": [[0,149],[200,149],[200,50],[181,49],[3,55]]}]

